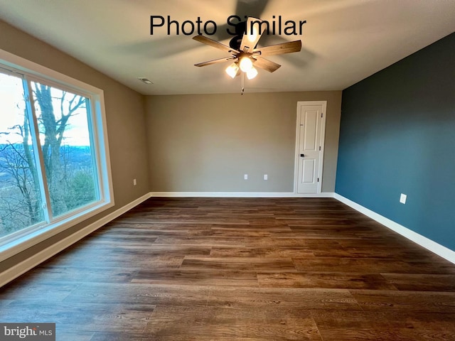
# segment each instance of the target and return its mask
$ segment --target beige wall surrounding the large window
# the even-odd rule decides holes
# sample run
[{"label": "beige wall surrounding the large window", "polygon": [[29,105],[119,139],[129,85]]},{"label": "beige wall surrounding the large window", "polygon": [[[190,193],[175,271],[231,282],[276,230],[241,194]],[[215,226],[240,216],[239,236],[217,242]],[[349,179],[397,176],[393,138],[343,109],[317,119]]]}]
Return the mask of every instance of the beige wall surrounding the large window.
[{"label": "beige wall surrounding the large window", "polygon": [[[18,31],[3,21],[0,21],[0,32],[0,48],[2,50],[104,90],[115,199],[115,206],[110,210],[72,227],[36,247],[23,251],[22,254],[1,262],[1,272],[27,256],[33,256],[46,246],[76,232],[77,229],[100,219],[108,212],[112,212],[149,193],[149,179],[145,148],[144,96],[43,43],[41,40]],[[137,178],[138,185],[135,187],[132,185],[133,178]]]}]

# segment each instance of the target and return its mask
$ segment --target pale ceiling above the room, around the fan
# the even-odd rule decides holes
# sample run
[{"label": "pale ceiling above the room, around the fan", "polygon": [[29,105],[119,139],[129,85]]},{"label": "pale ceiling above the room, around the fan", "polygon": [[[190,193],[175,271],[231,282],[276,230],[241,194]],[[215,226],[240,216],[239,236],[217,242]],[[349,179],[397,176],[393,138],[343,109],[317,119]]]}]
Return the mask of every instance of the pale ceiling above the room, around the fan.
[{"label": "pale ceiling above the room, around the fan", "polygon": [[454,0],[0,0],[2,20],[142,94],[240,92],[241,77],[225,75],[229,63],[193,66],[228,56],[196,33],[177,36],[172,26],[168,35],[165,23],[150,34],[150,16],[200,17],[217,24],[210,38],[229,45],[233,14],[307,21],[302,36],[262,36],[258,45],[301,39],[302,50],[270,56],[282,67],[259,70],[245,92],[343,90],[455,31]]}]

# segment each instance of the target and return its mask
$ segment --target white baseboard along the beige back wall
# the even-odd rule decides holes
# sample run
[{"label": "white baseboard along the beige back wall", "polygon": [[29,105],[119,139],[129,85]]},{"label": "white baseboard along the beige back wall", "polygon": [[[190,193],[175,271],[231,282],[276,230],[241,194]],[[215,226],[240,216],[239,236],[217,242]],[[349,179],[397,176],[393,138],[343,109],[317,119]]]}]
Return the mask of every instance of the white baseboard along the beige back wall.
[{"label": "white baseboard along the beige back wall", "polygon": [[151,197],[333,197],[335,193],[300,194],[291,192],[151,192]]}]

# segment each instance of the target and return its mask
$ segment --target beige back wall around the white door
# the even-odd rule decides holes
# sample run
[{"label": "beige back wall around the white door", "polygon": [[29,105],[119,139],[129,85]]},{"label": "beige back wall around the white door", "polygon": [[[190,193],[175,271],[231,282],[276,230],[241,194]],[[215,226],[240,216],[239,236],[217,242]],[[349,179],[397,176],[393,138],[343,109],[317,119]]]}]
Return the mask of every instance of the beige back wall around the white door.
[{"label": "beige back wall around the white door", "polygon": [[341,91],[146,97],[151,191],[293,192],[297,102],[321,100],[322,189],[334,192]]}]

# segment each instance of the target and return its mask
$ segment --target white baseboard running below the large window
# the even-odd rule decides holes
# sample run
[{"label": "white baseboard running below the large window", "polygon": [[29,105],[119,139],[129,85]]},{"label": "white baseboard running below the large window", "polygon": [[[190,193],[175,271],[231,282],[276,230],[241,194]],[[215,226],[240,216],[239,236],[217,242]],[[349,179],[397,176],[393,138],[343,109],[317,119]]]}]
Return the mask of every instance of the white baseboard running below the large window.
[{"label": "white baseboard running below the large window", "polygon": [[39,251],[38,254],[35,254],[32,257],[21,261],[21,263],[18,263],[15,266],[11,266],[11,268],[7,269],[6,271],[0,274],[0,288],[4,286],[6,283],[13,281],[14,278],[17,278],[18,276],[25,274],[26,271],[29,271],[33,269],[35,266],[38,266],[39,264],[43,263],[43,261],[50,259],[50,257],[54,256],[55,254],[58,254],[58,252],[63,251],[67,247],[70,247],[75,242],[86,237],[88,234],[95,232],[97,229],[104,226],[108,222],[114,220],[115,218],[119,217],[125,212],[131,210],[133,207],[139,205],[141,202],[144,202],[145,200],[149,199],[149,197],[150,193],[142,195],[133,202],[130,202],[129,204],[120,207],[118,210],[109,213],[109,215],[102,217],[100,220],[93,222],[92,224],[80,229],[79,231],[71,234],[70,236],[64,239],[61,239],[55,244],[52,244],[50,247],[47,247],[46,249]]}]

